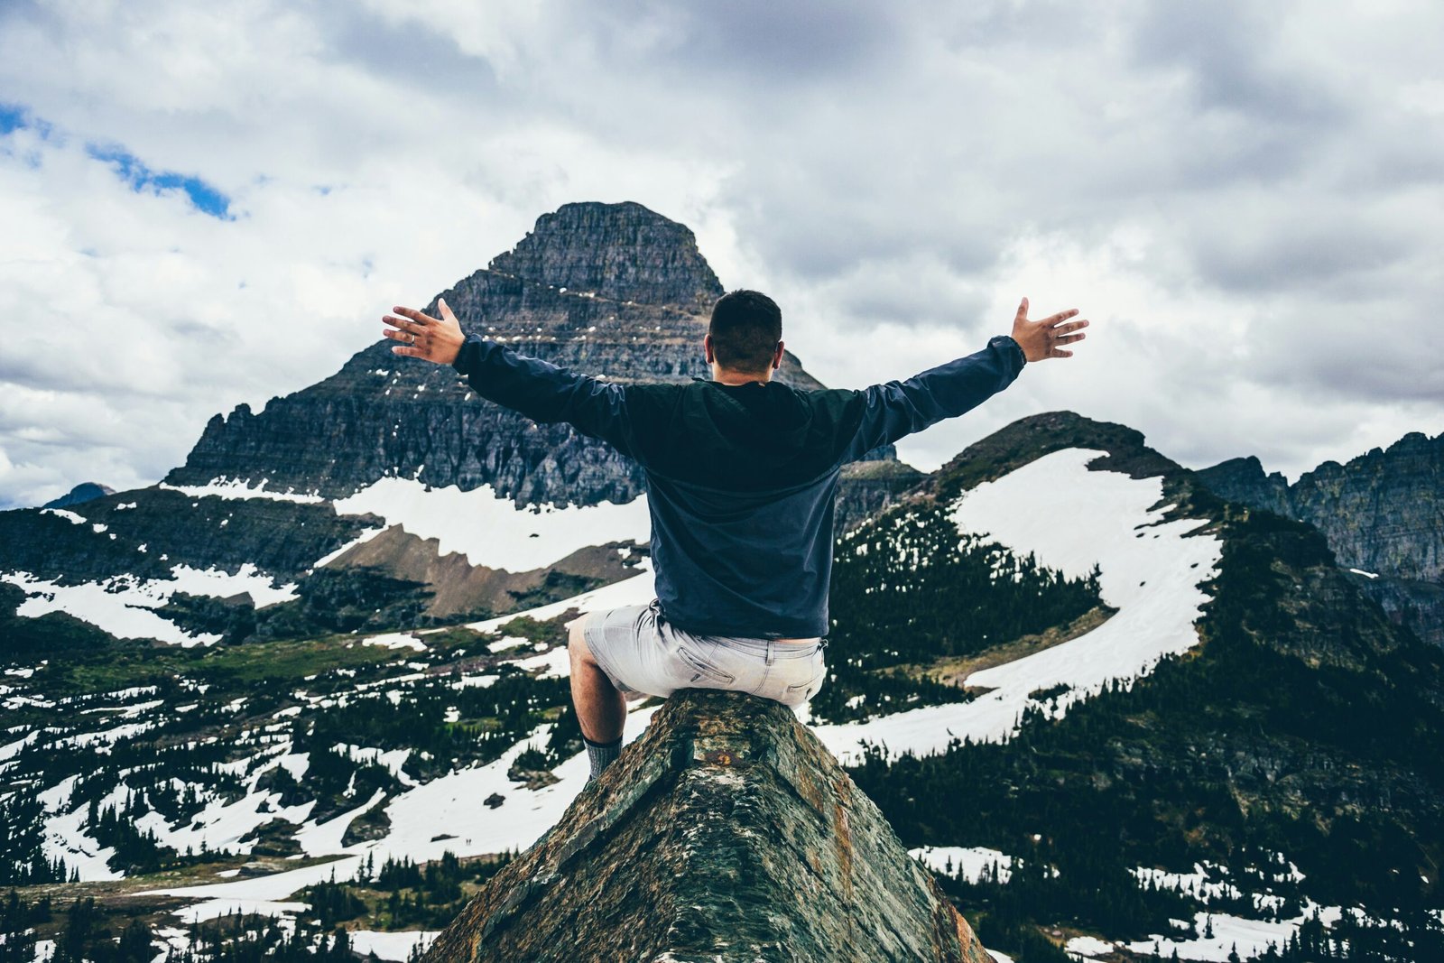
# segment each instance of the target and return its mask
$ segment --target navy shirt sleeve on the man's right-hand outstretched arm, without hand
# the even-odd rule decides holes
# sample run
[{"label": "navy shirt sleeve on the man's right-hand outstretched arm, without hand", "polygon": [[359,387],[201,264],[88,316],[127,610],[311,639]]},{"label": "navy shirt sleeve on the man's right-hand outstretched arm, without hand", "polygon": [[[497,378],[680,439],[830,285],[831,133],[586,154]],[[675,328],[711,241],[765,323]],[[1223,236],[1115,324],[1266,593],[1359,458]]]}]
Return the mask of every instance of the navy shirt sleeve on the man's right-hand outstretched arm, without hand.
[{"label": "navy shirt sleeve on the man's right-hand outstretched arm, without hand", "polygon": [[1002,391],[1027,360],[1009,335],[989,338],[988,347],[956,361],[865,388],[862,423],[843,461],[858,461],[879,445],[921,432],[943,419],[969,411]]}]

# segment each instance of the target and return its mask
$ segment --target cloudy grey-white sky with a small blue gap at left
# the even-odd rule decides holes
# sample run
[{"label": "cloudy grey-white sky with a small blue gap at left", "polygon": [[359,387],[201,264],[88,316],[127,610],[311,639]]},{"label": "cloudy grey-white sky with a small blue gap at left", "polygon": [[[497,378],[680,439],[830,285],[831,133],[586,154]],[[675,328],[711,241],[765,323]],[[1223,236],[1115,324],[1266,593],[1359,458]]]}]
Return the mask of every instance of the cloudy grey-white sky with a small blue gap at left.
[{"label": "cloudy grey-white sky with a small blue gap at left", "polygon": [[160,479],[569,201],[692,227],[832,385],[1082,309],[920,468],[1054,409],[1289,479],[1434,436],[1440,38],[1430,0],[3,0],[0,508]]}]

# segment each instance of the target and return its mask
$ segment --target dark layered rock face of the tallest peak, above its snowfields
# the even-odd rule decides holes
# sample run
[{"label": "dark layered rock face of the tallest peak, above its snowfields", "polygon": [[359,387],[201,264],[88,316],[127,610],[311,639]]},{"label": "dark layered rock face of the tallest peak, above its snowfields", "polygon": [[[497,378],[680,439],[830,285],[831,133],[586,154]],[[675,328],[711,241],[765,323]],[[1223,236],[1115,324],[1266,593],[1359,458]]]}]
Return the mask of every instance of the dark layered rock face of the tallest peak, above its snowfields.
[{"label": "dark layered rock face of the tallest peak, above its snowfields", "polygon": [[[710,377],[702,336],[721,293],[683,225],[635,204],[569,204],[440,296],[465,331],[627,383]],[[822,387],[791,354],[777,377]],[[217,414],[165,481],[266,478],[271,489],[341,498],[387,475],[490,484],[520,504],[625,502],[643,491],[640,469],[609,446],[481,401],[449,367],[393,355],[386,339],[260,414],[244,404]]]}]

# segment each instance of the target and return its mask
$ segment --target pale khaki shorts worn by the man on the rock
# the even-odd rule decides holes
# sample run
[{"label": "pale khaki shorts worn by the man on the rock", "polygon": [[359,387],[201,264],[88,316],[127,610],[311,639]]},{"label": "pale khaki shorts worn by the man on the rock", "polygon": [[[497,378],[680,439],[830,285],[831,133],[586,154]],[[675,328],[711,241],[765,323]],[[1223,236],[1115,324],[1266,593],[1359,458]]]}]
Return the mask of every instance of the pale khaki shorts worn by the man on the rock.
[{"label": "pale khaki shorts worn by the man on the rock", "polygon": [[799,706],[827,677],[827,640],[780,642],[693,635],[661,616],[661,605],[628,605],[582,616],[596,664],[628,699],[667,697],[677,689],[729,689]]}]

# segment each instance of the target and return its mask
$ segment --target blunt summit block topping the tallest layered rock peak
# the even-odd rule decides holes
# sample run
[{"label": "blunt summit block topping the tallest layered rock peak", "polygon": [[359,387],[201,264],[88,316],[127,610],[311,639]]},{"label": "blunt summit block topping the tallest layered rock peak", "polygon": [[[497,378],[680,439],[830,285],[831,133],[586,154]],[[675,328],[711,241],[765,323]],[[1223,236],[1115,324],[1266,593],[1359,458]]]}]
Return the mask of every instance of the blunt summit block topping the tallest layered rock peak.
[{"label": "blunt summit block topping the tallest layered rock peak", "polygon": [[563,204],[488,270],[643,305],[710,306],[722,295],[692,231],[634,201]]}]

